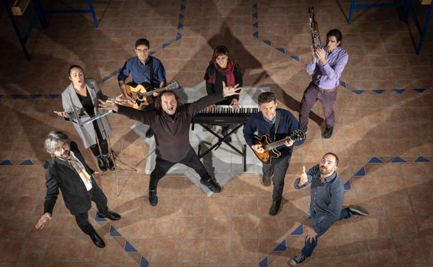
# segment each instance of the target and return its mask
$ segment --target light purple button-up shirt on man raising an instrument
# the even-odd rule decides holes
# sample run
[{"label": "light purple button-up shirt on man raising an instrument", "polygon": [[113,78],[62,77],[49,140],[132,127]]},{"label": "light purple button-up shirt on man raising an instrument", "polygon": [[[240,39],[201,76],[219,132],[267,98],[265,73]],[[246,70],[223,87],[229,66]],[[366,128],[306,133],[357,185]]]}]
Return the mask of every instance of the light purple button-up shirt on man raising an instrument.
[{"label": "light purple button-up shirt on man raising an instrument", "polygon": [[312,75],[313,83],[319,88],[333,89],[340,84],[339,78],[349,55],[341,46],[337,46],[331,53],[325,50],[325,55],[328,63],[323,66],[319,59],[316,64],[313,64],[313,60],[310,61],[307,64],[307,74]]}]

